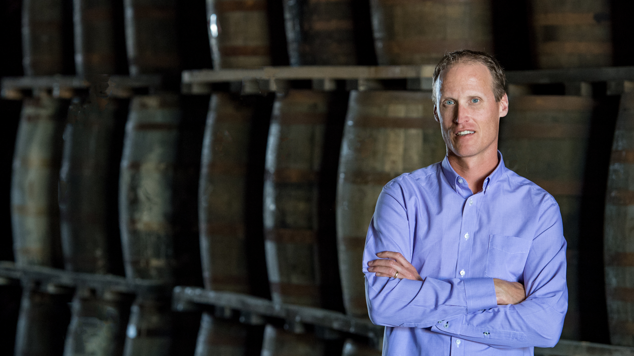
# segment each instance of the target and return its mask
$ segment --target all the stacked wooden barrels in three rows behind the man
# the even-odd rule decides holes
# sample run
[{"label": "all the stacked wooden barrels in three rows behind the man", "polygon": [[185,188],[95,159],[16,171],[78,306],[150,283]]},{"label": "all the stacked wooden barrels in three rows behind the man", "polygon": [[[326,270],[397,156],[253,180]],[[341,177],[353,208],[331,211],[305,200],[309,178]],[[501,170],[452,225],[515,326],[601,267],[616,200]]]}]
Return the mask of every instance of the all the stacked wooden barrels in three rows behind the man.
[{"label": "all the stacked wooden barrels in three rows behind the man", "polygon": [[[529,3],[536,67],[612,64],[607,0]],[[210,98],[155,91],[115,100],[103,88],[119,71],[119,8],[73,1],[69,65],[64,4],[23,1],[24,72],[56,75],[74,65],[93,85],[87,97],[71,101],[39,90],[23,101],[11,180],[16,265],[124,273],[131,284],[203,284],[368,318],[361,256],[378,195],[394,177],[446,154],[430,93],[348,94],[298,84],[275,98],[246,98],[214,86]],[[268,0],[205,0],[214,69],[279,64],[272,51],[276,27],[283,27],[283,56],[292,66],[365,63],[358,41],[364,30],[380,65],[434,65],[456,49],[494,49],[490,0],[370,0],[368,29],[351,0],[280,4],[283,21],[271,23],[276,8]],[[167,87],[178,80],[185,57],[179,55],[178,6],[175,0],[122,2],[129,75],[163,75]],[[604,234],[612,343],[629,346],[632,100],[631,94],[621,100]],[[512,96],[500,127],[507,167],[560,205],[568,241],[567,339],[582,337],[580,226],[597,105],[588,96]],[[68,310],[67,289],[25,280],[23,290],[16,355],[168,355],[183,345],[176,336],[183,333],[179,317],[165,296],[132,300],[79,288]],[[380,345],[342,345],[339,336],[332,342],[298,321],[267,324],[243,314],[238,322],[233,310],[220,307],[204,310],[200,324],[198,316],[187,319],[190,327],[200,325],[195,351],[190,345],[197,356],[245,355],[259,350],[249,345],[254,338],[262,340],[262,355],[324,355],[337,347],[350,356],[380,354]]]}]

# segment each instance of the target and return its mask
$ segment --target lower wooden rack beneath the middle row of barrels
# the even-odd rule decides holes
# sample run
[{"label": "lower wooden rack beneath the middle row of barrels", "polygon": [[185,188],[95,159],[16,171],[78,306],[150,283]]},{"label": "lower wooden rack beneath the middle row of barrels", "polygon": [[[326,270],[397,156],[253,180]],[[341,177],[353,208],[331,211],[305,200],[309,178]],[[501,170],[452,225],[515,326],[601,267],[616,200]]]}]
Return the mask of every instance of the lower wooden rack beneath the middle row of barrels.
[{"label": "lower wooden rack beneath the middle row of barrels", "polygon": [[[49,267],[16,267],[13,262],[0,261],[0,281],[7,279],[36,281],[66,288],[93,288],[120,293],[152,293],[167,295],[169,286],[159,281],[89,273],[68,272]],[[383,336],[383,327],[372,324],[368,319],[351,317],[332,310],[274,303],[268,299],[223,291],[209,291],[203,288],[176,286],[172,290],[172,308],[178,312],[197,310],[202,305],[212,305],[227,311],[242,312],[241,321],[247,324],[261,324],[262,317],[283,319],[292,329],[298,325],[312,324],[333,331],[356,334],[377,343]],[[226,315],[226,313],[225,313]],[[332,332],[330,333],[332,335]],[[586,341],[560,340],[554,348],[535,348],[535,355],[545,356],[634,356],[634,347],[604,345]]]}]

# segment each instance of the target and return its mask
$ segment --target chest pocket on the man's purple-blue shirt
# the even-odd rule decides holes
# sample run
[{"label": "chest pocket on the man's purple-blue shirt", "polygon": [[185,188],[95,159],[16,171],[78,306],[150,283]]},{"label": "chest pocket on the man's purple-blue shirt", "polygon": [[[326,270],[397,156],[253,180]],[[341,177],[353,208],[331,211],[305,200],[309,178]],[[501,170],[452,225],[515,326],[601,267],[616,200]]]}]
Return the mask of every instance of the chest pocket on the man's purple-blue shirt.
[{"label": "chest pocket on the man's purple-blue shirt", "polygon": [[515,236],[489,235],[486,276],[517,282],[522,278],[533,240]]}]

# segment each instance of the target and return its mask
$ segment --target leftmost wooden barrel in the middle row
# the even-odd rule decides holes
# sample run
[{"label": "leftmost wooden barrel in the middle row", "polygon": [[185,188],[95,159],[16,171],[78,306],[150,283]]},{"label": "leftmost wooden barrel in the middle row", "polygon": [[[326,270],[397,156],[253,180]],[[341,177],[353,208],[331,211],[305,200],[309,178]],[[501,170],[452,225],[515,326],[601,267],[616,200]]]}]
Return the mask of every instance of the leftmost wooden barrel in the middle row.
[{"label": "leftmost wooden barrel in the middle row", "polygon": [[18,265],[61,267],[58,179],[65,101],[25,99],[11,177],[13,251]]}]

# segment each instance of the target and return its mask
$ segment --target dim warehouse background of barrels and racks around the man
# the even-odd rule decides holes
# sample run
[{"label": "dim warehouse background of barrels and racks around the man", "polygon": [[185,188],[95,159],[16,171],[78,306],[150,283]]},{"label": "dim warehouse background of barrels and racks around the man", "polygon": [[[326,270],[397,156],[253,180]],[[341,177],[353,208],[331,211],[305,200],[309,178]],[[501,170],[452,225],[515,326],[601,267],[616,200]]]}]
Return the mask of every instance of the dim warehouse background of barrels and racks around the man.
[{"label": "dim warehouse background of barrels and racks around the man", "polygon": [[634,2],[0,6],[1,353],[380,355],[368,224],[444,158],[431,73],[473,49],[507,70],[505,165],[562,213],[535,354],[634,355]]}]

